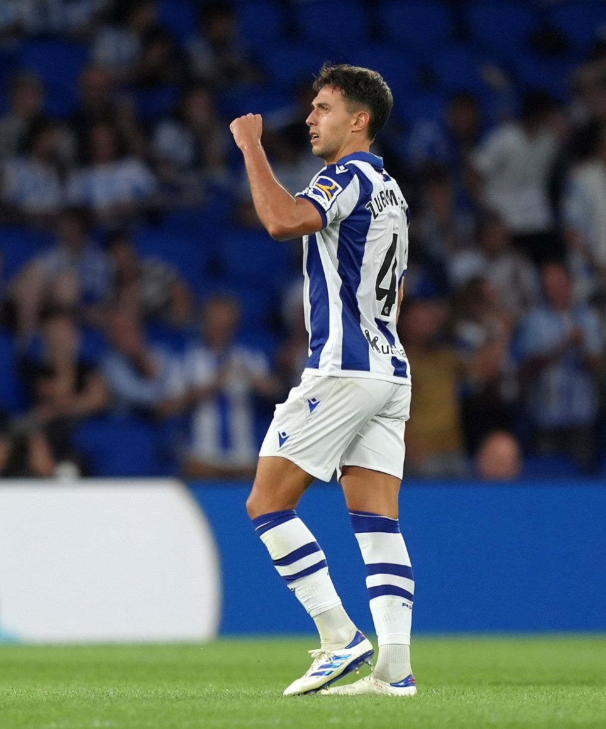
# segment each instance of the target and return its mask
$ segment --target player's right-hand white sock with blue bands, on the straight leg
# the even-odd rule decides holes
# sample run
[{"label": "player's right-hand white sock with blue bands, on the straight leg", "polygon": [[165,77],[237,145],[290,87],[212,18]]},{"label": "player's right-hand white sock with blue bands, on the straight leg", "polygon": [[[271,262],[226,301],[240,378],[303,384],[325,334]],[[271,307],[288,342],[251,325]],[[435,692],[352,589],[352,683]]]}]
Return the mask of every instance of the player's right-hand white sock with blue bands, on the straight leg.
[{"label": "player's right-hand white sock with blue bands, on the straight leg", "polygon": [[349,513],[366,564],[370,612],[379,643],[375,675],[399,681],[410,674],[415,583],[408,550],[397,519],[367,511]]}]

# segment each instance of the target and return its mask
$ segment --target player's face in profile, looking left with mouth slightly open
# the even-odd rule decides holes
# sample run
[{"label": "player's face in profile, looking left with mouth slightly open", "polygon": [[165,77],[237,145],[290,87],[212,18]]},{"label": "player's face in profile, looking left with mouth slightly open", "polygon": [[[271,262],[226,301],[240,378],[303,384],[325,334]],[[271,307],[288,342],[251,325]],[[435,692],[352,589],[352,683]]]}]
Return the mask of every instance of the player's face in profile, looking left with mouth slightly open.
[{"label": "player's face in profile, looking left with mouth slightly open", "polygon": [[339,158],[339,151],[348,141],[356,112],[352,112],[338,89],[325,86],[312,101],[312,112],[307,117],[312,152],[327,163]]}]

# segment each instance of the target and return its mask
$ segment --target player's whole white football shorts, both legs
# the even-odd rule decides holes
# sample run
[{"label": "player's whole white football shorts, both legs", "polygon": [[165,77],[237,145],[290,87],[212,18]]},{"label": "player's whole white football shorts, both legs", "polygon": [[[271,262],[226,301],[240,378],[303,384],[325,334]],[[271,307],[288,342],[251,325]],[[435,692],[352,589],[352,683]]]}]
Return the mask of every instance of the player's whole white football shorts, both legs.
[{"label": "player's whole white football shorts, both legs", "polygon": [[276,405],[259,456],[283,456],[321,481],[361,466],[402,478],[410,384],[303,375]]}]

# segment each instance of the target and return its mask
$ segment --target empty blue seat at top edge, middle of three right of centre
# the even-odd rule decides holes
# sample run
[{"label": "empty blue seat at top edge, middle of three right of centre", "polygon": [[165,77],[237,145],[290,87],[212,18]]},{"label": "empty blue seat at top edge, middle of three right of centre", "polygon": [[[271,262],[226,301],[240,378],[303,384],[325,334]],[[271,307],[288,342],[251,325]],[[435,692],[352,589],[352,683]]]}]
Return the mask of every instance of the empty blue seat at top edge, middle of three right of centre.
[{"label": "empty blue seat at top edge, middle of three right of centre", "polygon": [[383,27],[402,50],[430,56],[453,38],[453,17],[434,0],[388,0],[381,6]]}]

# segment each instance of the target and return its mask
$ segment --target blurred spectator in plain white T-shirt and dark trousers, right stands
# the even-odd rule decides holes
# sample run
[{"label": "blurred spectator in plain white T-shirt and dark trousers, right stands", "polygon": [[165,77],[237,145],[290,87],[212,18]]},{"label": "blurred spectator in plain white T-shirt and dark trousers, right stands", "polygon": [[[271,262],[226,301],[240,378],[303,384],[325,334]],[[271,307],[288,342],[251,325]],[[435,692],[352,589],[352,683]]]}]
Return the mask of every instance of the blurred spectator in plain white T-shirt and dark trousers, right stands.
[{"label": "blurred spectator in plain white T-shirt and dark trousers, right stands", "polygon": [[564,253],[548,195],[560,143],[557,112],[547,93],[526,93],[521,120],[494,130],[471,157],[477,199],[499,214],[514,246],[537,265]]}]

